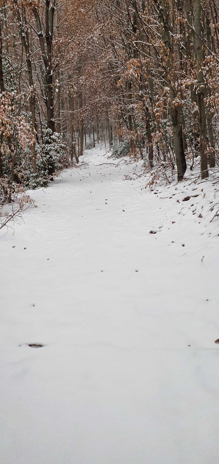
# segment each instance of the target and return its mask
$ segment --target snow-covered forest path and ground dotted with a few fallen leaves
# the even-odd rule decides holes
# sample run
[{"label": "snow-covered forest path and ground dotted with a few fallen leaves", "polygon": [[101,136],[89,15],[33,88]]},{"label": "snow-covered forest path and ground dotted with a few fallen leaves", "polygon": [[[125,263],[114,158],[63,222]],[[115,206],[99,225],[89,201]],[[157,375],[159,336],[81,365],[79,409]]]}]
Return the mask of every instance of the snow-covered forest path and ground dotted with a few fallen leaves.
[{"label": "snow-covered forest path and ground dotted with a few fallen leaves", "polygon": [[141,172],[87,151],[0,233],[1,464],[218,462],[218,187]]}]

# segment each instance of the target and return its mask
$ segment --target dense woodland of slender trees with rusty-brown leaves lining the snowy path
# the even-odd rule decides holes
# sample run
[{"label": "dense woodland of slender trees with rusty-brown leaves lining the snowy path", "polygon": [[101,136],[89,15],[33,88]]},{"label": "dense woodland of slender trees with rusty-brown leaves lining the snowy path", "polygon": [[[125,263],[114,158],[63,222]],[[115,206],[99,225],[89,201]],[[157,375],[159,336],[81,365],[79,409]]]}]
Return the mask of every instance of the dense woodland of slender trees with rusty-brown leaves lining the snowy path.
[{"label": "dense woodland of slender trees with rusty-brown leaves lining the snowy path", "polygon": [[181,181],[199,162],[203,179],[217,169],[218,8],[218,0],[1,1],[4,195],[47,185],[99,142],[144,159],[156,180]]}]

